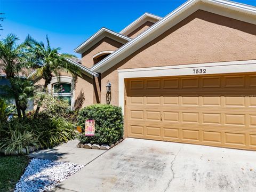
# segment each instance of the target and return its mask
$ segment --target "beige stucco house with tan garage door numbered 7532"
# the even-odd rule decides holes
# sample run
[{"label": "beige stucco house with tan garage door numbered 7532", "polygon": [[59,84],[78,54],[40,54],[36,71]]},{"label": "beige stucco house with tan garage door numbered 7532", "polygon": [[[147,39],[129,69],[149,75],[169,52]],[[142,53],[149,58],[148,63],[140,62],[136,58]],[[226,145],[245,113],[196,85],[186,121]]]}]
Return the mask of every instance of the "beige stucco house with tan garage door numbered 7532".
[{"label": "beige stucco house with tan garage door numbered 7532", "polygon": [[[84,70],[72,100],[82,91],[84,106],[121,106],[125,137],[256,150],[255,45],[253,6],[189,0],[145,13],[75,49]],[[61,83],[73,86],[67,74]]]}]

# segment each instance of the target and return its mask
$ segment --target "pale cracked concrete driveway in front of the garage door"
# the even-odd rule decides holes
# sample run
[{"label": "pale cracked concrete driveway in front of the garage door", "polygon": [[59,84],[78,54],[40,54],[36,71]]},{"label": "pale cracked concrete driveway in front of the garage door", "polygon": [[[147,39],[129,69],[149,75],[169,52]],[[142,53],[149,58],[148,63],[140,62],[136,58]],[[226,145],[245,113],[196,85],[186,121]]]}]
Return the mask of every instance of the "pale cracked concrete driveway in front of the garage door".
[{"label": "pale cracked concrete driveway in front of the garage door", "polygon": [[127,138],[53,191],[256,191],[256,153]]}]

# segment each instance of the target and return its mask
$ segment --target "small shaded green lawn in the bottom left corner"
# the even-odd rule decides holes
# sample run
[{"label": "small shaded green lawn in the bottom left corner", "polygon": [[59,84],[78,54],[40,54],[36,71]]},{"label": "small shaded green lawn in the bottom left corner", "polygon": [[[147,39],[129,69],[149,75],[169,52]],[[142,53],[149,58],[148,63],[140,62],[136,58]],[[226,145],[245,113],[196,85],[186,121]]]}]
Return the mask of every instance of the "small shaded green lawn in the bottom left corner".
[{"label": "small shaded green lawn in the bottom left corner", "polygon": [[0,155],[0,191],[13,191],[26,166],[27,156]]}]

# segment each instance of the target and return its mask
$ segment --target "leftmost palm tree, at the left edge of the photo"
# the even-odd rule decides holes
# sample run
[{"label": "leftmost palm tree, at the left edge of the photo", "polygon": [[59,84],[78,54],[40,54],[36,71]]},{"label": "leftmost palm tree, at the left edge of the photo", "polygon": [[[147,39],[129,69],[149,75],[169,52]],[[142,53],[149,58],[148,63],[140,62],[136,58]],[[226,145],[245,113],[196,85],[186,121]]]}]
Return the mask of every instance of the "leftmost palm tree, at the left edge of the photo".
[{"label": "leftmost palm tree, at the left edge of the photo", "polygon": [[[0,41],[0,71],[9,81],[19,79],[28,72],[26,69],[33,65],[33,52],[29,49],[33,39],[28,35],[23,43],[18,44],[17,41],[19,38],[14,34],[9,34]],[[17,88],[15,81],[10,81],[10,86],[13,90]],[[14,100],[18,117],[21,118],[19,96],[14,95]]]}]

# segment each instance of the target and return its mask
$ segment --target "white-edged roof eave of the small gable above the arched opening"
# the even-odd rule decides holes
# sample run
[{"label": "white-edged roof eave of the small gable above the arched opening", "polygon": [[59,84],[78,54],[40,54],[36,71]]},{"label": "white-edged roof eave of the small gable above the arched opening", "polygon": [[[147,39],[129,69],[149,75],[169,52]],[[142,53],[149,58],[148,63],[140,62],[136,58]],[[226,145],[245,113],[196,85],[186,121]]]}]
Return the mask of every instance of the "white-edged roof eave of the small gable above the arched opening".
[{"label": "white-edged roof eave of the small gable above the arched opening", "polygon": [[87,39],[84,43],[79,45],[74,51],[76,53],[82,54],[85,51],[87,51],[88,49],[90,49],[90,47],[92,47],[95,43],[98,43],[104,37],[109,37],[109,38],[114,39],[115,41],[123,43],[123,44],[125,44],[131,40],[131,38],[129,38],[129,37],[126,37],[122,34],[118,34],[115,31],[112,31],[112,30],[109,30],[109,29],[103,27],[100,30],[98,30],[97,33],[95,33],[89,39]]}]

